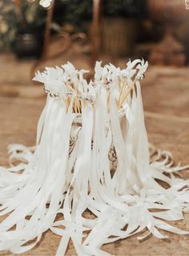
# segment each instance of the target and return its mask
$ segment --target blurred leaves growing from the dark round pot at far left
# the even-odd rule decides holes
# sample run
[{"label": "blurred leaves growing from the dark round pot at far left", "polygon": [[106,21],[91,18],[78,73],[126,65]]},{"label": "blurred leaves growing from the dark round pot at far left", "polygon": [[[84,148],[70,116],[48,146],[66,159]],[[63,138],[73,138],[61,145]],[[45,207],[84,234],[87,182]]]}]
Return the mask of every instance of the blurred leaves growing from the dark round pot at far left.
[{"label": "blurred leaves growing from the dark round pot at far left", "polygon": [[46,10],[38,1],[22,0],[16,6],[11,0],[0,0],[0,49],[11,47],[19,33],[38,33],[46,21]]}]

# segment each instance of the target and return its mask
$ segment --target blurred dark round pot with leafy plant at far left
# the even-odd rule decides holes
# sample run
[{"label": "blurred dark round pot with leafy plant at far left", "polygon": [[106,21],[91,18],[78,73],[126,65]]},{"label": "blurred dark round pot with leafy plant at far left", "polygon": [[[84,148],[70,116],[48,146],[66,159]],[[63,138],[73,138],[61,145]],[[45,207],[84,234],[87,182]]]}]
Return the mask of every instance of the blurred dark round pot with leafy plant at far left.
[{"label": "blurred dark round pot with leafy plant at far left", "polygon": [[38,1],[3,0],[1,14],[7,27],[4,44],[21,59],[41,56],[46,11]]}]

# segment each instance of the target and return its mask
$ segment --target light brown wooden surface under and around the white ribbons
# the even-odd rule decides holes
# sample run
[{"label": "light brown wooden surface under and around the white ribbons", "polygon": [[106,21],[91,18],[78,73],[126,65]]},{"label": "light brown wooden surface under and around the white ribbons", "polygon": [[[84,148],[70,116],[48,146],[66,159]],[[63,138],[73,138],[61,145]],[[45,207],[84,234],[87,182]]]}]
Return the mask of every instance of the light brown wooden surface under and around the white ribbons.
[{"label": "light brown wooden surface under and around the white ribbons", "polygon": [[[23,67],[22,67],[23,68]],[[18,68],[17,68],[18,70]],[[16,73],[14,73],[17,76]],[[1,75],[0,75],[1,76]],[[6,76],[0,81],[0,163],[7,164],[6,147],[18,142],[27,146],[35,142],[38,116],[45,103],[43,90],[38,85],[23,86],[17,81],[6,84]],[[25,77],[26,78],[26,77]],[[28,77],[26,78],[28,81]],[[9,81],[9,79],[8,79]],[[143,103],[146,115],[149,140],[155,146],[169,150],[176,161],[189,163],[189,68],[149,68],[143,81]],[[15,84],[15,85],[14,85]],[[189,171],[183,171],[189,178]],[[189,214],[175,225],[189,230]],[[139,242],[130,237],[120,242],[103,246],[112,255],[131,256],[187,256],[189,236],[168,233],[170,239],[159,240],[149,237]],[[50,231],[43,234],[42,240],[33,250],[23,255],[54,255],[60,237]],[[0,255],[10,256],[9,252]],[[75,255],[70,242],[66,255]]]}]

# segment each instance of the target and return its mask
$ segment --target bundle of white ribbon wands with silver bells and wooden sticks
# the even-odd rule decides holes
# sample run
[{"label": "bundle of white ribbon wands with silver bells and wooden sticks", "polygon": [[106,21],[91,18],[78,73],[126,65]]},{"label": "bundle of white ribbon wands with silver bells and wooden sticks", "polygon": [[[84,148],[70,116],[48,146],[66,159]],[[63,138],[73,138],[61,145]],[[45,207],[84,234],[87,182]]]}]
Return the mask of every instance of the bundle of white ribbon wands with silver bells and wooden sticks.
[{"label": "bundle of white ribbon wands with silver bells and wooden sticks", "polygon": [[188,166],[148,144],[146,69],[97,62],[89,83],[70,63],[36,74],[48,94],[36,147],[11,145],[10,167],[0,167],[0,250],[26,252],[48,229],[62,236],[57,255],[70,239],[78,255],[109,255],[103,244],[135,233],[188,233],[167,224],[189,209],[189,180],[178,174]]}]

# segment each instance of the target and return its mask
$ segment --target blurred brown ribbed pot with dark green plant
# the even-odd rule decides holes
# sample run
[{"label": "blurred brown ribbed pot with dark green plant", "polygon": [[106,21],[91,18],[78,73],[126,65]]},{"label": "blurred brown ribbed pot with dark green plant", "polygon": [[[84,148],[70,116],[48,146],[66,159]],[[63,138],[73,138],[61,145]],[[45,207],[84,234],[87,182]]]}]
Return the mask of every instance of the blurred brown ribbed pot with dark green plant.
[{"label": "blurred brown ribbed pot with dark green plant", "polygon": [[103,52],[115,56],[131,55],[138,35],[138,22],[145,12],[146,0],[104,0]]}]

